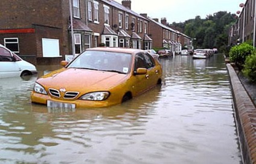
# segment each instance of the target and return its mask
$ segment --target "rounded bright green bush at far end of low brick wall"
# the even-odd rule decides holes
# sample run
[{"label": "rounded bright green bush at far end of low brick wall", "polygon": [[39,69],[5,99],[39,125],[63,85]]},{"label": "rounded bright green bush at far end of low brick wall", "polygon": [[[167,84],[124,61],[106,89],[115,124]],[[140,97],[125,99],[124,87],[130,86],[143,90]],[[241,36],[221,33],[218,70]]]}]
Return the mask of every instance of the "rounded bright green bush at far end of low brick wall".
[{"label": "rounded bright green bush at far end of low brick wall", "polygon": [[242,43],[234,46],[229,50],[229,60],[234,62],[235,65],[237,65],[237,67],[242,70],[246,57],[251,55],[253,50],[254,47],[248,43]]}]

